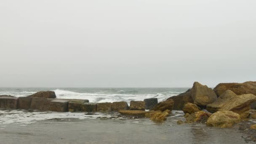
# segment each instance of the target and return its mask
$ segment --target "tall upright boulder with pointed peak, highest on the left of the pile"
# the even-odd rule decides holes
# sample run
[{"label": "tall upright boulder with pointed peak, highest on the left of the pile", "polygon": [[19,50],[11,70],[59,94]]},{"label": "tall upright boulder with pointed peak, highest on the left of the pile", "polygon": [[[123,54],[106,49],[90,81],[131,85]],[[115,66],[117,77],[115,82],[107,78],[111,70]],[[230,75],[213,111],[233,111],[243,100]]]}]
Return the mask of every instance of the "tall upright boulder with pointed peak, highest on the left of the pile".
[{"label": "tall upright boulder with pointed peak, highest on the left of the pile", "polygon": [[191,97],[194,101],[193,104],[197,106],[206,106],[217,99],[215,92],[211,88],[208,88],[206,85],[201,85],[198,82],[195,82],[191,88]]}]

